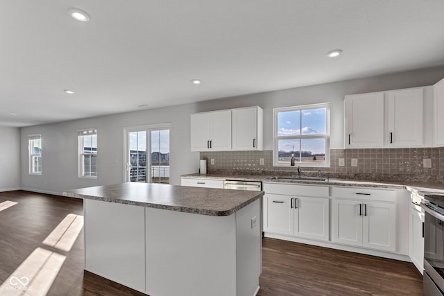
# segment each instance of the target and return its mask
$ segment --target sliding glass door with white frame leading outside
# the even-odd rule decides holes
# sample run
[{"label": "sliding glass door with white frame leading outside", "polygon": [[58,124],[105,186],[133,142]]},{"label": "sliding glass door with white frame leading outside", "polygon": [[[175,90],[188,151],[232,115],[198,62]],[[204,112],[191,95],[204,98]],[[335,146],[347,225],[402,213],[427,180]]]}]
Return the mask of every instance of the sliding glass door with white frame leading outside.
[{"label": "sliding glass door with white frame leading outside", "polygon": [[126,128],[126,182],[169,184],[169,127]]}]

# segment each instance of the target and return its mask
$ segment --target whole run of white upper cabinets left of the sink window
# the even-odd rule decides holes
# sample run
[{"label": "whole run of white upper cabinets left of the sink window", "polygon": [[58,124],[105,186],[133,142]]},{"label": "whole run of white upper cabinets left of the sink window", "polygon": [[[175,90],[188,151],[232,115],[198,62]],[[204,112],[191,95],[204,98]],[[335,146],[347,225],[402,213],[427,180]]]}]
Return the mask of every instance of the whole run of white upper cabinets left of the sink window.
[{"label": "whole run of white upper cabinets left of the sink window", "polygon": [[261,107],[191,114],[191,151],[262,150]]}]

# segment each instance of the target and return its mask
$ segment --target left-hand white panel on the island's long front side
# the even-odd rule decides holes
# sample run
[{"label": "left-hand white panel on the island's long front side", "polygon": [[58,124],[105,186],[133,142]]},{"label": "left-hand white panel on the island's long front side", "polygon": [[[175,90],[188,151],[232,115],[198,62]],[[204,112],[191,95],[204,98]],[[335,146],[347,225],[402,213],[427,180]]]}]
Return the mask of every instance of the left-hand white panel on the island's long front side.
[{"label": "left-hand white panel on the island's long front side", "polygon": [[145,208],[84,200],[85,270],[145,292]]}]

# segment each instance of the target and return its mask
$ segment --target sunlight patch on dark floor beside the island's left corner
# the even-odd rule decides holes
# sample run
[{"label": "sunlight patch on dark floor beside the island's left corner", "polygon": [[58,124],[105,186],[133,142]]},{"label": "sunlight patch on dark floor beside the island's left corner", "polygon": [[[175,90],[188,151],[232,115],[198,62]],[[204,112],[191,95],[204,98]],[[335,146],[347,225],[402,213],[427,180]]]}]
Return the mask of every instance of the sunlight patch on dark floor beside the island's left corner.
[{"label": "sunlight patch on dark floor beside the island's left corner", "polygon": [[69,252],[83,227],[83,216],[68,214],[43,241],[44,245]]}]

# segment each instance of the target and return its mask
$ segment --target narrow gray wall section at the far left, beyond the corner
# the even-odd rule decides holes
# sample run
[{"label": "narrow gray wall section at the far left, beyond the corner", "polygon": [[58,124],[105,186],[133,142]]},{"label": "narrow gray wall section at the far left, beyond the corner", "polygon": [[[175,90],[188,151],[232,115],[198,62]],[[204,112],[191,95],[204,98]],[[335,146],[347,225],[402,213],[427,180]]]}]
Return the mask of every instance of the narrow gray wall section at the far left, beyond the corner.
[{"label": "narrow gray wall section at the far left, beyond the corner", "polygon": [[[26,146],[27,147],[27,146]],[[0,127],[0,191],[20,188],[20,130]]]}]

